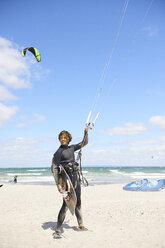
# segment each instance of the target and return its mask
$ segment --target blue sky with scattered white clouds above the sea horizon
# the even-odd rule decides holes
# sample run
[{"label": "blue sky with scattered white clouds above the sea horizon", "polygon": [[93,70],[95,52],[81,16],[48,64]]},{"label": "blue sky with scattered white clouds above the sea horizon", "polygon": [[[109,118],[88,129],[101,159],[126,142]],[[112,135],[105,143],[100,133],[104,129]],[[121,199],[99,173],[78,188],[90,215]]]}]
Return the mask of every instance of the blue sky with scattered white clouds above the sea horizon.
[{"label": "blue sky with scattered white clouds above the sea horizon", "polygon": [[[165,166],[164,13],[164,0],[1,0],[0,167],[49,167],[90,110],[83,166]],[[31,46],[41,62],[22,57]]]}]

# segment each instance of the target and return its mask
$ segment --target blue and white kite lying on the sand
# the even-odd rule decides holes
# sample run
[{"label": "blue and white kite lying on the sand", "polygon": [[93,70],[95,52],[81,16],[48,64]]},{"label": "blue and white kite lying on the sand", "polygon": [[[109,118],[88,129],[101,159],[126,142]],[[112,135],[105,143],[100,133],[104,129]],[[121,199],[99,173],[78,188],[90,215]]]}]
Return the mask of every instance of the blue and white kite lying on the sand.
[{"label": "blue and white kite lying on the sand", "polygon": [[131,191],[160,191],[165,187],[165,179],[141,179],[128,183],[123,187],[124,190]]}]

